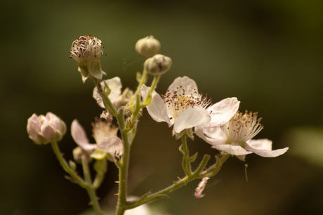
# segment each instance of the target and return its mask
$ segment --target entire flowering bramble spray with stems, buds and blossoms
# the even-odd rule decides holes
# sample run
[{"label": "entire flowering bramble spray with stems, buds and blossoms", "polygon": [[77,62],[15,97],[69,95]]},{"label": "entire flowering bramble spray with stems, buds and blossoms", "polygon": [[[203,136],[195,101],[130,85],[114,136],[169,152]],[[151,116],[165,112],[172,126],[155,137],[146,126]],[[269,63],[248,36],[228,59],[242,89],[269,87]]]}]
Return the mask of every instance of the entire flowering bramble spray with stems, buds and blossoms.
[{"label": "entire flowering bramble spray with stems, buds and blossoms", "polygon": [[[119,168],[116,214],[150,214],[143,204],[166,197],[168,193],[197,178],[202,178],[202,181],[195,190],[195,197],[203,197],[202,192],[207,181],[218,173],[230,156],[237,156],[244,161],[245,156],[251,153],[262,157],[277,157],[289,149],[272,150],[272,141],[253,140],[263,129],[257,112],[239,112],[240,101],[235,97],[213,103],[207,94],[199,93],[197,84],[189,77],[178,77],[165,94],[157,93],[155,89],[159,79],[170,70],[172,60],[159,54],[160,43],[154,37],[145,37],[136,43],[136,51],[146,58],[143,73],[136,74],[136,91],[128,88],[122,91],[119,77],[103,80],[105,72],[100,64],[102,48],[102,41],[91,35],[77,37],[70,48],[70,58],[77,61],[83,82],[88,78],[93,79],[93,98],[105,109],[100,117],[106,120],[95,119],[92,124],[95,143],[89,141],[86,131],[77,119],[74,119],[71,125],[72,138],[78,145],[73,150],[74,161],[82,165],[84,179],[77,174],[77,164],[74,161],[67,163],[58,149],[56,142],[66,133],[65,122],[51,112],[46,116],[34,114],[27,122],[29,138],[39,145],[51,143],[63,169],[70,174],[67,178],[88,192],[95,214],[103,215],[95,190],[103,182],[107,160],[114,162]],[[153,76],[150,86],[147,85],[148,75]],[[129,156],[139,117],[145,107],[154,121],[166,122],[169,127],[173,126],[173,136],[176,139],[181,138],[182,145],[179,150],[183,154],[182,167],[185,177],[178,178],[173,185],[157,193],[146,193],[142,197],[131,199],[127,197]],[[112,120],[117,121],[118,126],[112,125]],[[216,163],[207,167],[210,156],[204,155],[193,171],[191,163],[197,159],[197,153],[190,156],[186,139],[189,137],[194,140],[195,135],[219,150],[220,155],[216,156]],[[89,169],[93,159],[93,169],[96,172],[94,180],[91,179],[92,173]]]}]

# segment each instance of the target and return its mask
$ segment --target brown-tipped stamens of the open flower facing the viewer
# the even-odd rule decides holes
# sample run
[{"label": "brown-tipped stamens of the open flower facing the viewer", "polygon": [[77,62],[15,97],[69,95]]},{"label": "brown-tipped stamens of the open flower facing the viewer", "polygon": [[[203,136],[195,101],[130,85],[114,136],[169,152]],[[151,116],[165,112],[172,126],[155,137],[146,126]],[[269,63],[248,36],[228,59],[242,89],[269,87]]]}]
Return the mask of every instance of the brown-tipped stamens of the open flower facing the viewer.
[{"label": "brown-tipped stamens of the open flower facing the viewer", "polygon": [[190,95],[185,94],[183,86],[177,87],[177,91],[170,92],[168,90],[165,95],[162,95],[162,99],[166,104],[167,113],[171,115],[172,119],[176,119],[189,107],[200,106],[206,109],[212,103],[211,98],[207,98],[207,94],[203,96],[195,89]]}]

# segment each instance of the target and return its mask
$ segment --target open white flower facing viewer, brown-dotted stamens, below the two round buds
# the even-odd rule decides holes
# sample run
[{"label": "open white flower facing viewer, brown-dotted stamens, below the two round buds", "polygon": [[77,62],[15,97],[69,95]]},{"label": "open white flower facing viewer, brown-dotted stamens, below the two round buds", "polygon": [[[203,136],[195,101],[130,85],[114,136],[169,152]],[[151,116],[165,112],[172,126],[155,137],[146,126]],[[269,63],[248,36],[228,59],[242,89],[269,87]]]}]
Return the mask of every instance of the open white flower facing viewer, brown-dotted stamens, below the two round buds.
[{"label": "open white flower facing viewer, brown-dotted stamens, below the two round buds", "polygon": [[[149,88],[141,88],[145,99]],[[152,92],[152,100],[147,105],[147,111],[157,122],[167,122],[173,125],[173,130],[180,133],[192,127],[214,127],[228,122],[239,108],[237,98],[226,98],[211,105],[211,99],[202,96],[197,91],[197,84],[188,77],[178,77],[169,86],[165,95],[159,96]]]}]

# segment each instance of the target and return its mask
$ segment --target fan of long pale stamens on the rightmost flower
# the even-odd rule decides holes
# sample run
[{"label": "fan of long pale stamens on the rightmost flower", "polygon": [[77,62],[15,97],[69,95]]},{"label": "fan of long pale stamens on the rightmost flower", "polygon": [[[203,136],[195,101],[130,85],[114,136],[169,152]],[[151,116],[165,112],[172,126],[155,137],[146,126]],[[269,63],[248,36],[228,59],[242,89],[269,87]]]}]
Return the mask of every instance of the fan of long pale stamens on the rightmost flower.
[{"label": "fan of long pale stamens on the rightmost flower", "polygon": [[258,112],[237,112],[227,124],[221,128],[228,138],[228,143],[238,142],[244,144],[251,140],[257,133],[263,129],[260,124],[261,118],[257,119]]}]

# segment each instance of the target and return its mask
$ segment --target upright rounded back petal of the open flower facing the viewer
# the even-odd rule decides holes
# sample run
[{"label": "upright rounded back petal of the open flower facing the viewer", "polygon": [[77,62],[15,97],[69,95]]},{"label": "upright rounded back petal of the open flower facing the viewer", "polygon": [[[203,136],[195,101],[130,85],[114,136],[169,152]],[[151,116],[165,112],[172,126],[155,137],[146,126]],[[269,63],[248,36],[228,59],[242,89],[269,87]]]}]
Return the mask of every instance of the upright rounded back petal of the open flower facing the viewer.
[{"label": "upright rounded back petal of the open flower facing the viewer", "polygon": [[[174,80],[173,84],[169,86],[169,93],[171,93],[171,96],[173,96],[174,91],[178,91],[178,94],[183,94],[183,91],[180,89],[180,86],[185,90],[185,95],[193,95],[194,97],[199,96],[198,90],[197,90],[197,84],[193,79],[190,79],[189,77],[178,77]],[[170,98],[171,98],[170,96]]]}]

